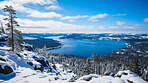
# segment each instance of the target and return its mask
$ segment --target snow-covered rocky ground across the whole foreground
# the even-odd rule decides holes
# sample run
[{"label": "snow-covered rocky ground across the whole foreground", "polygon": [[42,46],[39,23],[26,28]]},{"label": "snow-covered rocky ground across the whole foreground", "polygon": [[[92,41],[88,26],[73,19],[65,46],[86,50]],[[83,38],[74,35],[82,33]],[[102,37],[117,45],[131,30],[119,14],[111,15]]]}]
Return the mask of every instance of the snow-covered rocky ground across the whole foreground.
[{"label": "snow-covered rocky ground across the whole foreground", "polygon": [[129,70],[119,71],[115,76],[90,74],[80,78],[69,73],[68,69],[63,71],[62,64],[55,64],[54,69],[49,63],[43,70],[42,64],[37,60],[46,62],[46,58],[37,52],[13,52],[9,49],[7,46],[0,47],[0,72],[6,66],[13,72],[0,73],[0,83],[148,83]]}]

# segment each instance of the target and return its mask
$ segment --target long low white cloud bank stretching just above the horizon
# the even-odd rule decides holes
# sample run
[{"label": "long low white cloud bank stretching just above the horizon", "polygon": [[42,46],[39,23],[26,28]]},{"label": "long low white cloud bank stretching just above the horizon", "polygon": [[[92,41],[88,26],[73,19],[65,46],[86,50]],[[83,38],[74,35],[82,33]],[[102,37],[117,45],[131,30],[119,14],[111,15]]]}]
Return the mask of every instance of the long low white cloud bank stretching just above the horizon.
[{"label": "long low white cloud bank stretching just above the horizon", "polygon": [[[3,19],[6,16],[0,14],[0,18]],[[16,19],[19,23],[19,27],[15,27],[21,30],[23,33],[99,33],[110,31],[123,31],[123,30],[148,30],[147,27],[141,26],[88,26],[88,25],[76,25],[58,22],[54,20],[40,20],[34,21],[30,19]],[[3,25],[6,21],[1,20]],[[4,27],[6,27],[4,25]]]}]

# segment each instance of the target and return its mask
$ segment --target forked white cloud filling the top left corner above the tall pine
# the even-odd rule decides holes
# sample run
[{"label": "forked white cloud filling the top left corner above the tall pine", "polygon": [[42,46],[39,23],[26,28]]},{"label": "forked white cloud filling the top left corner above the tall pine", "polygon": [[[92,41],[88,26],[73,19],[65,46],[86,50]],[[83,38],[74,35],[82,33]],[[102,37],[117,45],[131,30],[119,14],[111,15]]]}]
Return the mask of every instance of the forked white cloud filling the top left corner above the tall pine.
[{"label": "forked white cloud filling the top left corner above the tall pine", "polygon": [[11,5],[14,7],[16,11],[27,13],[28,17],[35,17],[35,18],[54,18],[54,17],[62,17],[62,15],[57,14],[55,12],[39,12],[38,10],[34,10],[31,8],[27,8],[24,5],[27,3],[31,4],[56,4],[56,0],[8,0],[8,1],[1,1],[0,2],[0,9],[3,9],[5,5]]}]

